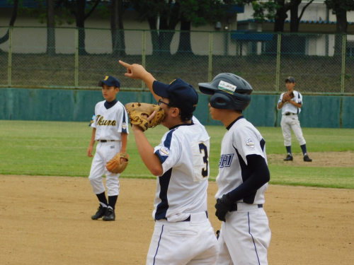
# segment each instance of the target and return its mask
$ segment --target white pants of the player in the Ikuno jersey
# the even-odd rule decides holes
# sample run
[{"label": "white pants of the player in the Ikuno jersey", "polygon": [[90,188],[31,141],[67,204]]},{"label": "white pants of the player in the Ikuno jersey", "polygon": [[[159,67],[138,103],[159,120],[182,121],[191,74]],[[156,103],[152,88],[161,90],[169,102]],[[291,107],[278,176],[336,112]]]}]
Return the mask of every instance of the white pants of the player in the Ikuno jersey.
[{"label": "white pants of the player in the Ikuno jersey", "polygon": [[[105,192],[105,186],[107,187],[108,196],[119,195],[119,175],[114,174],[107,170],[105,163],[111,160],[122,147],[121,141],[108,141],[105,143],[98,142],[96,146],[96,154],[93,157],[91,171],[90,171],[90,183],[94,194],[101,194]],[[105,175],[105,186],[103,185],[103,174]]]}]

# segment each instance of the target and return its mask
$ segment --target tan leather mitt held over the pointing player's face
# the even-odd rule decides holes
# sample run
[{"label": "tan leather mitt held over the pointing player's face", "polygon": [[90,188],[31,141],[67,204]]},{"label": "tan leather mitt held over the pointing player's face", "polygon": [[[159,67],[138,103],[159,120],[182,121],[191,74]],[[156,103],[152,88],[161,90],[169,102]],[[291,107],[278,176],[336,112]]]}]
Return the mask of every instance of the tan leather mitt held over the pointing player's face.
[{"label": "tan leather mitt held over the pointing player's face", "polygon": [[[149,128],[154,128],[154,126],[159,125],[165,117],[165,111],[159,105],[149,104],[149,103],[139,103],[132,102],[125,105],[125,109],[128,112],[130,124],[139,125],[144,131]],[[156,110],[155,117],[149,122],[147,117],[149,117],[152,112]],[[144,115],[147,117],[144,117]]]}]

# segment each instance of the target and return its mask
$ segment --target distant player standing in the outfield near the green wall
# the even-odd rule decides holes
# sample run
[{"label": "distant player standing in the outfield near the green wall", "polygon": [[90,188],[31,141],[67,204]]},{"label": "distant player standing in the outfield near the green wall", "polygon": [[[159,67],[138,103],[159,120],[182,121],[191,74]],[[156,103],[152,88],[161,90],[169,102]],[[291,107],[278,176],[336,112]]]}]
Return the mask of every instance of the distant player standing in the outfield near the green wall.
[{"label": "distant player standing in the outfield near the green wall", "polygon": [[287,93],[282,93],[278,101],[278,110],[282,109],[282,135],[284,136],[284,145],[287,149],[287,157],[285,161],[292,161],[291,153],[291,129],[294,131],[297,141],[299,141],[302,153],[304,154],[304,161],[311,162],[312,159],[307,155],[306,141],[302,136],[302,129],[300,127],[299,117],[297,114],[301,112],[302,95],[294,90],[295,78],[289,76],[285,79]]}]

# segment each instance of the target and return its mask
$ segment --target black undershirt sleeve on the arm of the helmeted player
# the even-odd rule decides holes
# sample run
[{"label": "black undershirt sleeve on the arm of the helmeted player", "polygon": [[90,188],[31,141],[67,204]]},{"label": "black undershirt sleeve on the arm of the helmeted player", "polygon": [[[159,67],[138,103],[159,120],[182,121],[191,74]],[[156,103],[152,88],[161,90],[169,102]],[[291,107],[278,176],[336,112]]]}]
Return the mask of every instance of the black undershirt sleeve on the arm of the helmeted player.
[{"label": "black undershirt sleeve on the arm of the helmeted player", "polygon": [[239,187],[227,194],[227,199],[232,202],[239,201],[245,196],[256,193],[270,179],[270,172],[265,159],[261,155],[247,155],[247,166],[251,169],[251,175]]}]

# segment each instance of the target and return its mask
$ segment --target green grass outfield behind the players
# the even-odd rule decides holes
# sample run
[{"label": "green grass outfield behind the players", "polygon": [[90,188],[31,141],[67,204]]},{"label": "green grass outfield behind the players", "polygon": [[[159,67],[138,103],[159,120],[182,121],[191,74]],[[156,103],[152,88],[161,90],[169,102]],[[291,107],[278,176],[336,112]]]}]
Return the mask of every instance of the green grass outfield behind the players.
[{"label": "green grass outfield behind the players", "polygon": [[[1,120],[0,174],[87,177],[92,161],[86,155],[92,131],[88,124]],[[206,128],[211,137],[210,179],[215,180],[225,129],[222,126]],[[258,129],[266,141],[268,155],[285,155],[280,128]],[[152,146],[159,144],[166,131],[164,126],[147,131]],[[303,132],[309,153],[354,151],[354,129],[304,128]],[[139,158],[133,134],[130,134],[127,151],[130,153],[130,165],[121,177],[154,178]],[[301,153],[295,136],[292,151]],[[354,189],[354,161],[353,167],[275,165],[270,161],[269,168],[270,184]]]}]

